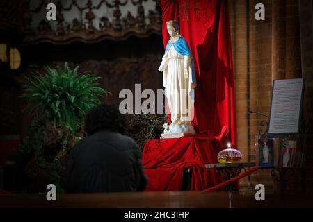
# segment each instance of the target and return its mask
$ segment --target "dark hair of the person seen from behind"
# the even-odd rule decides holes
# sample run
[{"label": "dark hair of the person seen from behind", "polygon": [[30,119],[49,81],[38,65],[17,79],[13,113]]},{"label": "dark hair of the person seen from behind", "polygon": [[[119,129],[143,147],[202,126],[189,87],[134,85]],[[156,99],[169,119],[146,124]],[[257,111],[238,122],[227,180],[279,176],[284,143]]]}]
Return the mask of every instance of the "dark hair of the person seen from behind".
[{"label": "dark hair of the person seen from behind", "polygon": [[88,111],[85,119],[87,135],[101,130],[125,133],[125,118],[115,105],[100,104]]}]

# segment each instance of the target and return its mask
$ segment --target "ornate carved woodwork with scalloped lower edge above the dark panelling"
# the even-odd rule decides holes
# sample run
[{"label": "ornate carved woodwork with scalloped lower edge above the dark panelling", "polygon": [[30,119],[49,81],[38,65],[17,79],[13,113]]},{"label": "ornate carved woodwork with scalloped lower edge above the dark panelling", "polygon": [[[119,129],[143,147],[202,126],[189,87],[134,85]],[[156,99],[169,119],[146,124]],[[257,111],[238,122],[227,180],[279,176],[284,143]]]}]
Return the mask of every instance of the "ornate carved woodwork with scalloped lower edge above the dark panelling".
[{"label": "ornate carved woodwork with scalloped lower edge above the dark panelling", "polygon": [[[45,10],[45,0],[38,0],[38,5],[31,8],[29,0],[22,0],[24,42],[38,44],[50,42],[53,44],[68,44],[74,41],[95,43],[105,39],[126,40],[129,36],[147,37],[152,33],[161,35],[161,8],[155,0],[101,0],[56,1],[56,21],[47,21],[40,16],[35,28],[32,26],[38,13]],[[154,10],[145,12],[143,3],[154,3]],[[121,10],[130,6],[136,7],[136,15],[130,11],[122,17]],[[125,8],[123,8],[125,7]],[[128,8],[127,8],[128,7]],[[103,11],[106,11],[104,14]],[[74,19],[68,20],[67,14]],[[77,17],[76,17],[76,14]],[[96,16],[97,14],[97,16]],[[102,15],[99,17],[98,15]],[[112,15],[111,17],[104,15]],[[67,18],[67,19],[65,19]]]}]

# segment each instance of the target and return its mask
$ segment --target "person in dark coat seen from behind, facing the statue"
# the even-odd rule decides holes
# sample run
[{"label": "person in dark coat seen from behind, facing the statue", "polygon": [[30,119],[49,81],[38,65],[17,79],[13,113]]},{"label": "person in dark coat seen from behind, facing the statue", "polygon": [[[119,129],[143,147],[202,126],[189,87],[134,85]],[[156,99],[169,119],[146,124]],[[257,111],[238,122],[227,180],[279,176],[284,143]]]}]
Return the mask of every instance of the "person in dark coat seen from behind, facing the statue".
[{"label": "person in dark coat seen from behind, facing the statue", "polygon": [[136,142],[113,105],[101,104],[86,115],[88,137],[67,157],[67,192],[144,191],[147,177]]}]

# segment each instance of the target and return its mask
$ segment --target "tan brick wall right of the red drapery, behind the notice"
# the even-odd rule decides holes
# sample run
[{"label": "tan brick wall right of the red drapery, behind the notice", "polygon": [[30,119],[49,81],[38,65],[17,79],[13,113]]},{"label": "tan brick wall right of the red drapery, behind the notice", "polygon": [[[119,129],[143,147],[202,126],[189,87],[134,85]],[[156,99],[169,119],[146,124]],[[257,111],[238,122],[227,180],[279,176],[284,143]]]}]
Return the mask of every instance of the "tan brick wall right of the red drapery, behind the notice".
[{"label": "tan brick wall right of the red drapery, behind the notice", "polygon": [[[255,20],[255,5],[265,6],[265,21]],[[273,80],[301,78],[298,0],[230,0],[230,28],[236,87],[239,149],[243,161],[255,161],[255,135],[259,123],[268,120]],[[242,190],[262,182],[267,190],[278,188],[271,170],[262,169],[241,180]],[[289,189],[300,189],[300,172]]]}]

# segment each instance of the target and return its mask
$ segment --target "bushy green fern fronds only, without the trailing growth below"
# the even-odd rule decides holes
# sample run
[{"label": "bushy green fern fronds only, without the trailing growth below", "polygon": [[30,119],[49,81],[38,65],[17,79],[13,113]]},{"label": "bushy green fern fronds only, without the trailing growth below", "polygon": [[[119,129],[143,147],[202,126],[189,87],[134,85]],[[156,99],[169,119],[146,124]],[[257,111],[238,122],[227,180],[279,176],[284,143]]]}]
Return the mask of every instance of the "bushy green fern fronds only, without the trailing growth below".
[{"label": "bushy green fern fronds only, without the trailing growth below", "polygon": [[99,96],[109,93],[99,87],[99,77],[78,74],[78,69],[70,69],[65,62],[64,69],[45,67],[45,74],[27,78],[30,85],[22,94],[29,99],[27,109],[34,115],[43,114],[47,121],[67,123],[72,131],[77,130],[86,112],[100,103]]}]

